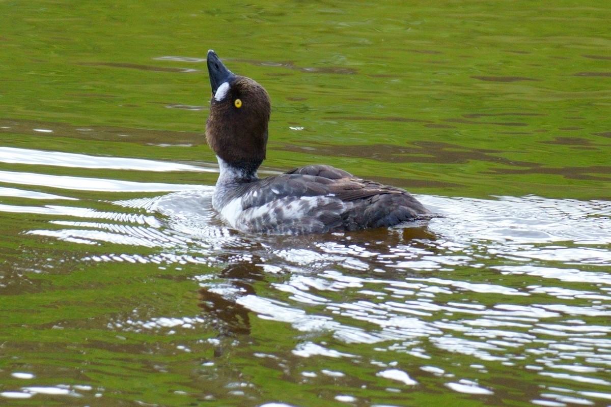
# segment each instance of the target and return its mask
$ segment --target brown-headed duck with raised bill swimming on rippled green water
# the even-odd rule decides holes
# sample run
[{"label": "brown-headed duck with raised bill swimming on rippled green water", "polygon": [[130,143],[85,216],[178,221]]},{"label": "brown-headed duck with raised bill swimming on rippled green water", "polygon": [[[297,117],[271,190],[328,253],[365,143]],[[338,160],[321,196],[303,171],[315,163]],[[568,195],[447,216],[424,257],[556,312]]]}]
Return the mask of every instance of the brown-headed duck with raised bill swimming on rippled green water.
[{"label": "brown-headed duck with raised bill swimming on rippled green water", "polygon": [[232,73],[212,49],[207,65],[212,96],[205,135],[219,163],[212,207],[230,228],[302,235],[388,228],[433,217],[406,190],[330,165],[258,178],[268,142],[268,92]]}]

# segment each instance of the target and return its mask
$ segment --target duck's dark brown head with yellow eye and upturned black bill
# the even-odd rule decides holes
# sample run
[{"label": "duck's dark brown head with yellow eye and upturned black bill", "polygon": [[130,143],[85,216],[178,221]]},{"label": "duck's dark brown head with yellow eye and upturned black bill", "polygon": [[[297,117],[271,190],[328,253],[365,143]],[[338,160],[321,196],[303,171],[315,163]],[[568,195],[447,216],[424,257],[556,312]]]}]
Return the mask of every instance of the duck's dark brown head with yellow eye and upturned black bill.
[{"label": "duck's dark brown head with yellow eye and upturned black bill", "polygon": [[208,51],[212,98],[206,140],[218,157],[236,167],[256,168],[265,159],[271,101],[250,78],[233,74]]}]

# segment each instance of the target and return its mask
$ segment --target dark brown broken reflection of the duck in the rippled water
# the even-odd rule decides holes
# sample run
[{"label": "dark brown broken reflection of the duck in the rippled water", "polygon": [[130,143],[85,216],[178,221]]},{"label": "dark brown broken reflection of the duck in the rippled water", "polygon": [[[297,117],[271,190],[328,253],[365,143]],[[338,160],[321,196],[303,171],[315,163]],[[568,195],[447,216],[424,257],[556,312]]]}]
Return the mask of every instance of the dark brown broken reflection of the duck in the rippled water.
[{"label": "dark brown broken reflection of the duck in the rippled water", "polygon": [[[239,232],[236,232],[240,234]],[[323,268],[320,265],[299,265],[293,267],[290,261],[279,262],[275,253],[280,253],[287,248],[291,250],[312,250],[320,251],[320,245],[343,245],[345,247],[367,247],[368,250],[386,253],[389,248],[411,246],[415,249],[431,250],[424,242],[437,239],[436,234],[426,228],[426,223],[414,223],[414,226],[396,228],[367,229],[349,233],[336,234],[313,234],[305,236],[243,236],[245,239],[252,239],[247,259],[238,259],[226,265],[221,272],[216,275],[214,282],[200,284],[199,307],[205,319],[210,321],[214,329],[219,332],[221,337],[240,337],[251,333],[251,309],[240,304],[240,298],[246,296],[258,297],[257,283],[267,282],[269,286],[274,280],[282,279],[283,276],[295,272],[301,275],[319,273]],[[278,274],[266,272],[262,265],[269,263],[269,259],[274,259],[276,264],[285,264],[284,271]],[[229,259],[227,259],[229,260]],[[329,264],[334,268],[334,262]],[[292,270],[292,271],[291,271]],[[354,270],[353,275],[368,276],[369,272],[359,272]],[[389,270],[386,278],[394,278],[395,274],[404,278],[404,270]],[[397,278],[399,278],[397,276]],[[316,289],[310,289],[314,294]],[[215,355],[224,353],[224,344],[221,342],[215,348]]]}]

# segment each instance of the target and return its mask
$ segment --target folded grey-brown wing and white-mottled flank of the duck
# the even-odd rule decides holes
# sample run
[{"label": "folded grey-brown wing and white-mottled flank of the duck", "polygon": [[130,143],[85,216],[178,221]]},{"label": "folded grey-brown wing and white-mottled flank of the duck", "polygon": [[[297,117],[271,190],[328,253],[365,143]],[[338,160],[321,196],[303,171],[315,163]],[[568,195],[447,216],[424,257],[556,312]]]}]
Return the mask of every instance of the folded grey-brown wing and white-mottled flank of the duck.
[{"label": "folded grey-brown wing and white-mottled flank of the duck", "polygon": [[[403,189],[360,179],[328,165],[295,168],[243,187],[240,195],[244,213],[262,212],[249,221],[249,229],[265,232],[378,228],[431,215]],[[285,211],[294,210],[299,215],[287,217]],[[280,216],[274,217],[273,213]]]}]

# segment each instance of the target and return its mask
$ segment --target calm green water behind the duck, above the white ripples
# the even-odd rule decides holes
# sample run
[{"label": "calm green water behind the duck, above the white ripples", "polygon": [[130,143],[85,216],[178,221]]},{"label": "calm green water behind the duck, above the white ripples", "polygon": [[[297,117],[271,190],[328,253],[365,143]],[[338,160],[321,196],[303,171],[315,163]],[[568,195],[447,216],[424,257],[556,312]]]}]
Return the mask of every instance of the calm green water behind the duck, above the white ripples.
[{"label": "calm green water behind the duck, above the white ripples", "polygon": [[[205,64],[160,59],[203,59],[213,48],[273,98],[270,167],[324,160],[443,195],[609,197],[606,2],[4,2],[2,10],[3,118],[202,132],[205,112],[163,107],[207,106]],[[174,137],[164,142],[202,143]],[[27,143],[59,144],[42,139],[51,145]],[[117,140],[116,149],[108,143]],[[205,146],[103,141],[94,148],[108,154],[214,161]]]}]

